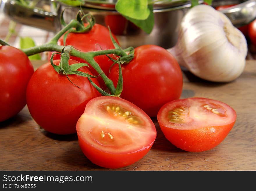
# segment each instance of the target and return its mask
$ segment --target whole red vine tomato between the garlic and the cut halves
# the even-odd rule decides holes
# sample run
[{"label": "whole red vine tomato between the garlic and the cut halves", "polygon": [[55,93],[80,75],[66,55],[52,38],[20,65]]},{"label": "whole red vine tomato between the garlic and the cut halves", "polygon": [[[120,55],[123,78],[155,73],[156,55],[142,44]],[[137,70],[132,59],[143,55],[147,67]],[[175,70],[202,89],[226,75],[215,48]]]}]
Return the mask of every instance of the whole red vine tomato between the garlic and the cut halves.
[{"label": "whole red vine tomato between the garlic and the cut halves", "polygon": [[[109,78],[116,85],[118,65],[111,68]],[[156,45],[135,48],[134,59],[122,65],[123,91],[126,99],[144,110],[150,117],[165,103],[179,99],[182,93],[182,72],[176,59]]]}]

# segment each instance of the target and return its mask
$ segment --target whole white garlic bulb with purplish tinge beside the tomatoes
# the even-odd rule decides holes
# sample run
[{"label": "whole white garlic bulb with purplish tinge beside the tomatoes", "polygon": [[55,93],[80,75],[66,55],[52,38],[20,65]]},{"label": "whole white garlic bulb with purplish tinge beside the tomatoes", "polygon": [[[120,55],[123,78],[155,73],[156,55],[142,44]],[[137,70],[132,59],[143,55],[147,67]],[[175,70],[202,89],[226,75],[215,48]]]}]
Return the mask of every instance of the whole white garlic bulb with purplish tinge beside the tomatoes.
[{"label": "whole white garlic bulb with purplish tinge beside the tomatoes", "polygon": [[194,75],[229,82],[243,72],[247,43],[223,13],[201,4],[186,13],[177,44],[168,51]]}]

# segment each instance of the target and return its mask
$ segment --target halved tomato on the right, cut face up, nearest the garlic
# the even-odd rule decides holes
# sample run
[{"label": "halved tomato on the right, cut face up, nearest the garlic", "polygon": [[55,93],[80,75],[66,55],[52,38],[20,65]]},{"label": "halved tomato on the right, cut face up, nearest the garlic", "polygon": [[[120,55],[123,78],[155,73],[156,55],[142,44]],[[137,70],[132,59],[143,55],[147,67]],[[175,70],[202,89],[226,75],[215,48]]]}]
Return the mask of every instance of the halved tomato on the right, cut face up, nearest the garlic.
[{"label": "halved tomato on the right, cut face up, nearest the garlic", "polygon": [[177,148],[189,152],[210,150],[225,139],[236,121],[227,104],[207,98],[174,100],[157,115],[165,137]]}]

